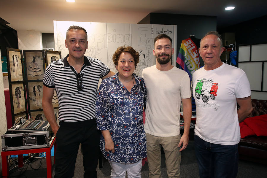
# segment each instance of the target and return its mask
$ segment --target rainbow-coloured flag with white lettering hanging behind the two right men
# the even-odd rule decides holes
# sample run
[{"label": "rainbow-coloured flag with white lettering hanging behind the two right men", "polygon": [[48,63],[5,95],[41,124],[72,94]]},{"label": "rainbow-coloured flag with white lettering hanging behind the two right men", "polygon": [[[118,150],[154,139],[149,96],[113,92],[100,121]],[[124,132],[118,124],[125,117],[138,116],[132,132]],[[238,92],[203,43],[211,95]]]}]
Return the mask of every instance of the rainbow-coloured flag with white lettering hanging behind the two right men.
[{"label": "rainbow-coloured flag with white lettering hanging behind the two right men", "polygon": [[182,41],[176,62],[186,71],[192,81],[194,71],[200,68],[198,49],[190,38]]}]

